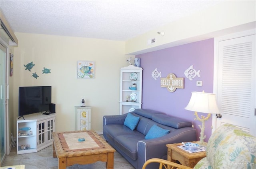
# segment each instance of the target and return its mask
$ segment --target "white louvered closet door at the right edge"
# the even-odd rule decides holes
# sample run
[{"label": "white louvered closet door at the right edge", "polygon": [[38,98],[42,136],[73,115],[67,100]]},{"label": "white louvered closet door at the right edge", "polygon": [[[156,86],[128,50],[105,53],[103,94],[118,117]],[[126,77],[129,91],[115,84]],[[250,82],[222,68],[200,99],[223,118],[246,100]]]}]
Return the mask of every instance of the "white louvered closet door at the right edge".
[{"label": "white louvered closet door at the right edge", "polygon": [[232,124],[255,135],[255,35],[218,44],[217,101],[222,118],[216,127]]}]

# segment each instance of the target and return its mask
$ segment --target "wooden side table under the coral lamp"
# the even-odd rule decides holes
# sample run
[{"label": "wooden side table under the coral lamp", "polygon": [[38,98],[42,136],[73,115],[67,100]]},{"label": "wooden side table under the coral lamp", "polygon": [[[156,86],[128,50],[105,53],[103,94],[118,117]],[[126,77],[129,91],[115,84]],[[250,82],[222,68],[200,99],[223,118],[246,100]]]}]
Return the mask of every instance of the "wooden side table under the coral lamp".
[{"label": "wooden side table under the coral lamp", "polygon": [[181,143],[166,144],[167,150],[167,160],[176,163],[179,161],[181,165],[186,165],[188,167],[194,168],[196,163],[202,158],[206,157],[206,151],[201,151],[197,153],[189,153],[178,146]]}]

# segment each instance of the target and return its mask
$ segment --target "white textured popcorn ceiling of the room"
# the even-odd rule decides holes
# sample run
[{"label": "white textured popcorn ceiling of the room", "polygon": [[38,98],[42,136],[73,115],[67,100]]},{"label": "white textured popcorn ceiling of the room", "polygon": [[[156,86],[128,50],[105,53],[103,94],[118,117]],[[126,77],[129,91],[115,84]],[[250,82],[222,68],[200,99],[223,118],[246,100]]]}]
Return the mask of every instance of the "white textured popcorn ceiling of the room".
[{"label": "white textured popcorn ceiling of the room", "polygon": [[216,0],[0,0],[14,32],[126,41]]}]

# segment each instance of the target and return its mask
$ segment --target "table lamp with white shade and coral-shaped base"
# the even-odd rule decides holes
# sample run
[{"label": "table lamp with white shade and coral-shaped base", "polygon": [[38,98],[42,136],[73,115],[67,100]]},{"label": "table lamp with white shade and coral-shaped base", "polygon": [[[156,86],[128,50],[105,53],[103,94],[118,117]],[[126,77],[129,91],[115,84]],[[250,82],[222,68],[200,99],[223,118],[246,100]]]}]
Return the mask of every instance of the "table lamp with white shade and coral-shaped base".
[{"label": "table lamp with white shade and coral-shaped base", "polygon": [[[207,143],[204,142],[206,135],[204,135],[204,121],[208,120],[211,114],[219,113],[219,109],[215,100],[215,94],[213,93],[204,93],[192,91],[192,95],[188,105],[185,107],[186,110],[194,111],[196,115],[195,120],[202,122],[202,126],[198,125],[201,129],[200,132],[200,141],[197,141],[199,145],[206,146]],[[207,117],[201,115],[201,118],[198,117],[197,112],[208,113]]]}]

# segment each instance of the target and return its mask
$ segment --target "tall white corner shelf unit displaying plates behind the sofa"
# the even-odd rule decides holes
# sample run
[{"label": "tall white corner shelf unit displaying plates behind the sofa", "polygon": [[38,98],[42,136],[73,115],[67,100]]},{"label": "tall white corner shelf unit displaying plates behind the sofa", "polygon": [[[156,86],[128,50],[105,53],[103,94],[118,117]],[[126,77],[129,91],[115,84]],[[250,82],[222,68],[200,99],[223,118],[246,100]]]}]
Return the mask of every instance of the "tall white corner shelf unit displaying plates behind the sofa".
[{"label": "tall white corner shelf unit displaying plates behind the sofa", "polygon": [[[132,88],[132,84],[135,84],[136,89]],[[120,114],[142,107],[142,68],[129,65],[120,69],[119,103]]]}]

